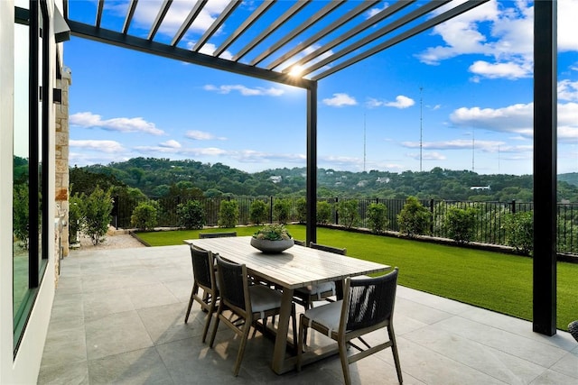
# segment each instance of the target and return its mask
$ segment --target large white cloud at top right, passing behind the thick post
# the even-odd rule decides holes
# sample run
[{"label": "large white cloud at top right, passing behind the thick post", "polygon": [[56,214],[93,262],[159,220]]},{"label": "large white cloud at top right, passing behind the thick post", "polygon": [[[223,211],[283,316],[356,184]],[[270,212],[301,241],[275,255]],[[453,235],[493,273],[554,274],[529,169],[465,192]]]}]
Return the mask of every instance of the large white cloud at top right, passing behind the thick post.
[{"label": "large white cloud at top right, passing behind the thick post", "polygon": [[[578,0],[557,2],[558,50],[578,51],[575,16]],[[445,8],[444,8],[445,9]],[[441,11],[440,11],[441,12]],[[489,1],[484,5],[433,28],[444,44],[430,47],[417,57],[427,64],[464,54],[481,54],[491,59],[477,60],[470,66],[480,78],[529,78],[533,73],[534,7],[528,0]],[[487,32],[489,31],[489,32]]]}]

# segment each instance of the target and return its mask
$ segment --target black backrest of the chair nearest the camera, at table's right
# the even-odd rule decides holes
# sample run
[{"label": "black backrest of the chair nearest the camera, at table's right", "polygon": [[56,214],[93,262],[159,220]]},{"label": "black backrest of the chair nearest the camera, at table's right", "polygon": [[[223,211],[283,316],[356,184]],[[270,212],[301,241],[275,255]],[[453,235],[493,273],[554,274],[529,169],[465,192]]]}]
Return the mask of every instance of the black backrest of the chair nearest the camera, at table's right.
[{"label": "black backrest of the chair nearest the camera, at table's right", "polygon": [[346,330],[357,330],[377,325],[388,319],[396,303],[397,271],[377,278],[346,279],[345,293],[349,303],[341,314],[341,323],[347,320]]}]

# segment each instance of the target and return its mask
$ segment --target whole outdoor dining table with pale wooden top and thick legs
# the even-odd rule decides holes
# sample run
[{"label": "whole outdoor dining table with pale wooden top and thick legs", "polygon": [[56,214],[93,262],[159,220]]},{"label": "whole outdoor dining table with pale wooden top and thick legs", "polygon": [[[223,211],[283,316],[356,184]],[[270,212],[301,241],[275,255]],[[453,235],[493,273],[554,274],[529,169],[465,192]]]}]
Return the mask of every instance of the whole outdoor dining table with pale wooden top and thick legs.
[{"label": "whole outdoor dining table with pale wooden top and thick legs", "polygon": [[[275,336],[272,369],[277,374],[292,371],[296,356],[287,354],[287,334],[291,318],[291,304],[294,289],[308,285],[344,280],[373,272],[390,270],[390,266],[372,261],[359,260],[333,252],[311,249],[294,245],[279,253],[264,253],[250,244],[250,236],[191,239],[185,243],[193,244],[203,250],[218,252],[228,261],[247,265],[249,274],[260,277],[283,289],[279,323]],[[296,345],[296,342],[294,342]],[[303,364],[313,362],[330,354],[337,353],[335,347],[318,349],[303,356]]]}]

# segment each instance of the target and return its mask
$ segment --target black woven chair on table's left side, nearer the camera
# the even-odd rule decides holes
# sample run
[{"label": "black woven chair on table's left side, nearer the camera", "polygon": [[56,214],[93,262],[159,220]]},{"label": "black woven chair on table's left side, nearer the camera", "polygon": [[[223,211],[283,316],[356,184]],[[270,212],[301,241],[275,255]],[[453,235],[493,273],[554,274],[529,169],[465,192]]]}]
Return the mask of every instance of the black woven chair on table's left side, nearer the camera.
[{"label": "black woven chair on table's left side, nearer the camera", "polygon": [[[249,286],[247,276],[247,266],[223,260],[217,255],[217,268],[219,272],[220,302],[219,311],[213,325],[210,336],[210,347],[215,342],[215,335],[219,328],[219,321],[228,325],[236,334],[241,336],[238,348],[237,362],[233,372],[235,376],[243,361],[243,353],[251,325],[257,320],[263,320],[263,328],[266,328],[266,319],[269,316],[276,316],[280,312],[282,294],[278,290],[270,289],[265,285]],[[223,315],[224,310],[230,310],[239,319],[231,321],[229,317]],[[295,307],[292,309],[294,341],[296,341],[297,325],[295,319]],[[239,322],[243,321],[243,322]],[[275,324],[275,322],[274,322]]]}]

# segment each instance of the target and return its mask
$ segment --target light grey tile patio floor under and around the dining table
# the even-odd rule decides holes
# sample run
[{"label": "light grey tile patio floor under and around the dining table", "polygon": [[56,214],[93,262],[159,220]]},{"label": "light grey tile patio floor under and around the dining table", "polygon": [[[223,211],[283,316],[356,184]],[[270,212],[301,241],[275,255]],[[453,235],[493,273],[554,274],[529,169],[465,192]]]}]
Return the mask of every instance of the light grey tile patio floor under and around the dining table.
[{"label": "light grey tile patio floor under and around the dining table", "polygon": [[[400,271],[403,274],[403,271]],[[273,342],[247,344],[222,329],[200,342],[205,314],[193,304],[187,245],[74,251],[62,261],[40,384],[339,384],[337,356],[276,375]],[[397,344],[406,384],[578,384],[578,344],[537,335],[527,321],[414,289],[397,289]],[[317,335],[317,339],[324,337]],[[350,365],[355,384],[395,384],[391,350]]]}]

